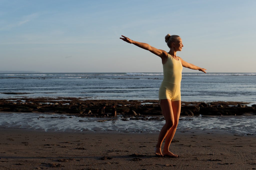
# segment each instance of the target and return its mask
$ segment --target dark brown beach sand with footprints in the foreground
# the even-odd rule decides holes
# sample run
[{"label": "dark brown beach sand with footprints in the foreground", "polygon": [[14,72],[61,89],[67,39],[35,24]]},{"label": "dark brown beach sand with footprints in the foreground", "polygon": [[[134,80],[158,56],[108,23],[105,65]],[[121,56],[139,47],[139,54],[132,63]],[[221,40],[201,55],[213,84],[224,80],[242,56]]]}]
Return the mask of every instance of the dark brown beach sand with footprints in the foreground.
[{"label": "dark brown beach sand with footprints in the foreground", "polygon": [[154,155],[158,133],[44,132],[0,128],[0,169],[256,169],[255,136],[177,132]]}]

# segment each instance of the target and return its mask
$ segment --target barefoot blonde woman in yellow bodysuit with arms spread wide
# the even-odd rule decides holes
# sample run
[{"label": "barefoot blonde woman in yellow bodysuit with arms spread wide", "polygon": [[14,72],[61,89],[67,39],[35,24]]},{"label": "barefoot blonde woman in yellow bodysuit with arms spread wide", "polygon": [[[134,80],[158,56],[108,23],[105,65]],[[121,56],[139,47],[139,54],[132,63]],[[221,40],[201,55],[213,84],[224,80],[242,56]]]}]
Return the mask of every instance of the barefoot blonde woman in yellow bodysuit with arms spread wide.
[{"label": "barefoot blonde woman in yellow bodysuit with arms spread wide", "polygon": [[[176,132],[181,109],[180,82],[182,67],[199,70],[204,73],[206,73],[206,69],[190,64],[176,56],[176,52],[181,51],[184,47],[182,39],[178,35],[168,34],[165,36],[165,42],[170,48],[168,53],[164,50],[154,48],[149,44],[133,41],[123,35],[122,37],[120,39],[123,41],[148,50],[162,59],[164,79],[159,88],[159,103],[165,118],[165,125],[160,131],[155,147],[155,154],[159,156],[178,157],[178,155],[169,151],[169,146]],[[165,144],[162,152],[161,146],[164,139]]]}]

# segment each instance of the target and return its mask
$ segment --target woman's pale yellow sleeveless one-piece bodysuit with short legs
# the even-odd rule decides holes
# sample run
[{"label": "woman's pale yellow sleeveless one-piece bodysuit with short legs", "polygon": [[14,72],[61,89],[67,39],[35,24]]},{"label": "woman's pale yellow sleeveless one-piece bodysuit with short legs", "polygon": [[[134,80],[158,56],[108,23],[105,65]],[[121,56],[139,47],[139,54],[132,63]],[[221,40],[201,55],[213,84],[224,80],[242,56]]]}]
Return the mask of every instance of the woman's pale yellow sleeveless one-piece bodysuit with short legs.
[{"label": "woman's pale yellow sleeveless one-piece bodysuit with short legs", "polygon": [[[167,53],[168,54],[168,53]],[[180,82],[182,77],[182,63],[168,54],[165,64],[163,64],[164,79],[159,88],[159,103],[161,99],[171,101],[181,100]]]}]

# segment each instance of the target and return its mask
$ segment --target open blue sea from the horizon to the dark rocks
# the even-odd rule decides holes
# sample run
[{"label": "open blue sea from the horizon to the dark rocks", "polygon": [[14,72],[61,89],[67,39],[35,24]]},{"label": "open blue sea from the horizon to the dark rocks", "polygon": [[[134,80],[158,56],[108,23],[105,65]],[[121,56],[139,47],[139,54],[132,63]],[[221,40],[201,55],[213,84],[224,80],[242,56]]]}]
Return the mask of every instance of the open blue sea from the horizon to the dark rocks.
[{"label": "open blue sea from the horizon to the dark rocks", "polygon": [[[162,79],[163,73],[1,73],[0,98],[158,100]],[[183,73],[181,97],[255,104],[256,73]]]}]

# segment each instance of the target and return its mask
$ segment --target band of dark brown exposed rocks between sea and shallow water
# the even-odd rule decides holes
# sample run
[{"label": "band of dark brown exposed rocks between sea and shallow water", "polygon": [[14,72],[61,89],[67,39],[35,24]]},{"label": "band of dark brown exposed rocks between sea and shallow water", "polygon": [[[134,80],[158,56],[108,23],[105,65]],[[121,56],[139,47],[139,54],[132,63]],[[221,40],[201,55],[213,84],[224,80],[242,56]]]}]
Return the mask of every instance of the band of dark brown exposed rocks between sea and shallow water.
[{"label": "band of dark brown exposed rocks between sea and shallow water", "polygon": [[[0,99],[1,112],[42,112],[77,114],[81,117],[96,117],[103,104],[105,112],[111,112],[111,104],[116,104],[118,115],[159,116],[162,115],[158,100],[88,100],[83,98],[7,98]],[[242,115],[256,113],[256,105],[246,102],[182,102],[181,116],[198,115]]]}]

